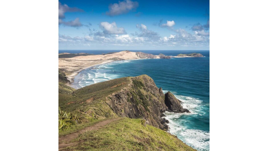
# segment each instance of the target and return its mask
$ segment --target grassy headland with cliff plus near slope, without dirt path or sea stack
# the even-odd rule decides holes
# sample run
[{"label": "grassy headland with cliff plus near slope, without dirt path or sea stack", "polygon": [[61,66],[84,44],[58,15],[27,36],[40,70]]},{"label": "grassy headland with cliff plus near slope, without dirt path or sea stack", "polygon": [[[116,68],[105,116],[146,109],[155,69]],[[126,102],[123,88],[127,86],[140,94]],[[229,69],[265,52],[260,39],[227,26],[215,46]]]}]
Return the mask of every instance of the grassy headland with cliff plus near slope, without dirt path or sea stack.
[{"label": "grassy headland with cliff plus near slope, without dirt path or sea stack", "polygon": [[[194,150],[161,130],[165,95],[148,75],[122,77],[75,90],[59,83],[59,136],[120,118],[82,133],[64,150]],[[146,124],[145,124],[146,123]],[[61,128],[60,128],[61,127]]]}]

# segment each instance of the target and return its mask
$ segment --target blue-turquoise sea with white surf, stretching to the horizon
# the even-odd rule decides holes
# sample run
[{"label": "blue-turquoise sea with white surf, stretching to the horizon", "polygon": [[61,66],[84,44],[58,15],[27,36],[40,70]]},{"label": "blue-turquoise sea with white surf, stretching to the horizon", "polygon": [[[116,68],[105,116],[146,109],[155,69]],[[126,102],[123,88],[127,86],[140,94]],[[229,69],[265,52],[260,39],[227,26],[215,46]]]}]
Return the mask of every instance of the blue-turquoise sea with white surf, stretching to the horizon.
[{"label": "blue-turquoise sea with white surf, stretching to the horizon", "polygon": [[[121,50],[59,50],[59,53],[118,52]],[[135,51],[135,50],[131,50]],[[97,65],[83,70],[74,79],[73,87],[107,81],[119,77],[147,74],[153,78],[163,92],[172,92],[191,113],[169,113],[165,117],[170,122],[170,133],[197,150],[209,150],[209,51],[208,50],[137,50],[140,52],[166,56],[201,53],[202,58],[140,59],[122,60]]]}]

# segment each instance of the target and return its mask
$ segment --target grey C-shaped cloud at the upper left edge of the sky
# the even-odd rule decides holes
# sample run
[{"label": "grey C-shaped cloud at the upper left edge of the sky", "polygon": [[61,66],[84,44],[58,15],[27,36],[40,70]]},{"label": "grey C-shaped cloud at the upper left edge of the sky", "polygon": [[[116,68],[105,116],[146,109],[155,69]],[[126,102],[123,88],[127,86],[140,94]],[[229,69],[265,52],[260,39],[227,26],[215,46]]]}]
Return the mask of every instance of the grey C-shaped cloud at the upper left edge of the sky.
[{"label": "grey C-shaped cloud at the upper left edge of the sky", "polygon": [[77,7],[69,7],[66,4],[61,4],[59,2],[59,25],[63,24],[65,26],[71,26],[71,27],[80,27],[82,26],[82,24],[79,21],[79,18],[76,18],[73,21],[63,21],[63,19],[65,18],[65,13],[66,12],[82,12],[82,9],[79,9]]}]

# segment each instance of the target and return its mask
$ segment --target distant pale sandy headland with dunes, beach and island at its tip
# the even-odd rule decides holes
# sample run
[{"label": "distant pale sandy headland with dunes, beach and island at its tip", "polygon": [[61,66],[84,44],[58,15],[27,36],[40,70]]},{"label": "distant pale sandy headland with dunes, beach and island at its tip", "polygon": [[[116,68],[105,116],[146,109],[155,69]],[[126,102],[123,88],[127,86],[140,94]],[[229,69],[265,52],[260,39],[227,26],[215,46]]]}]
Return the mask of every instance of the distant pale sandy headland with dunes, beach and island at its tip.
[{"label": "distant pale sandy headland with dunes, beach and island at its tip", "polygon": [[121,52],[110,52],[107,54],[88,54],[88,53],[60,53],[58,55],[59,69],[63,71],[68,80],[73,82],[74,76],[86,68],[95,65],[105,64],[116,60],[135,60],[135,59],[170,59],[183,57],[204,57],[202,54],[178,54],[177,56],[165,56],[164,54],[153,55],[143,52],[131,52],[128,50]]}]

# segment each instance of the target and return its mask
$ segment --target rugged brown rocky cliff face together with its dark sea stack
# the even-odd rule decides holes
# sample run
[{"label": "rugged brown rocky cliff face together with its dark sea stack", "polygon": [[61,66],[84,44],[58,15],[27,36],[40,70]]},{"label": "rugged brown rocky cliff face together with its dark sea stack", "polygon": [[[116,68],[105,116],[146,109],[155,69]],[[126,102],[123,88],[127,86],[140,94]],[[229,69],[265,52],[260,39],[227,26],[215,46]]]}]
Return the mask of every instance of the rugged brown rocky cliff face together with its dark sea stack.
[{"label": "rugged brown rocky cliff face together with its dark sea stack", "polygon": [[[120,117],[144,118],[150,125],[167,130],[167,125],[161,119],[161,113],[189,112],[182,108],[180,101],[172,93],[168,92],[165,96],[162,88],[159,89],[148,75],[132,77],[131,81],[127,88],[108,97],[107,103]],[[165,100],[169,100],[171,108],[167,106]]]}]

